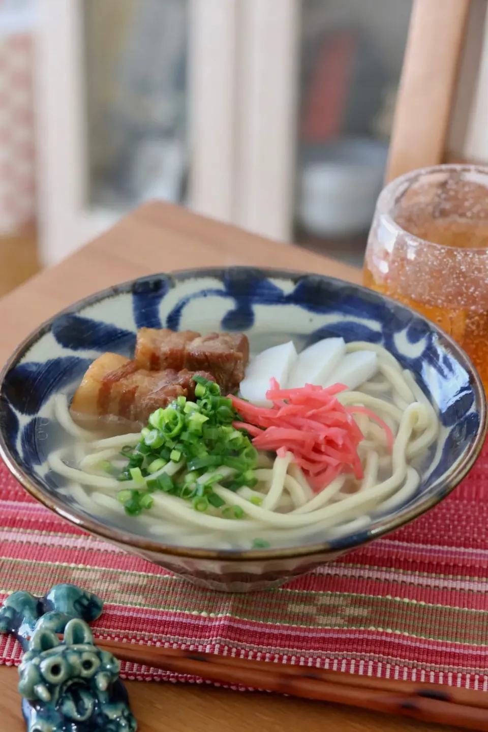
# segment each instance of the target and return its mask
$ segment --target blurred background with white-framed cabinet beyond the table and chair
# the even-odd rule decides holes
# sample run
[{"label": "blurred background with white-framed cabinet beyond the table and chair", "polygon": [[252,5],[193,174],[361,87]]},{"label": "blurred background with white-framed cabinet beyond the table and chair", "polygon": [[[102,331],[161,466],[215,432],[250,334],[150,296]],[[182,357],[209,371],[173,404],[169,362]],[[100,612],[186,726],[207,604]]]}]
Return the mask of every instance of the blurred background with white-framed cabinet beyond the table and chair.
[{"label": "blurred background with white-framed cabinet beyond the table and chair", "polygon": [[[486,10],[472,0],[451,160],[488,161]],[[0,294],[151,198],[361,266],[411,11],[0,0]]]}]

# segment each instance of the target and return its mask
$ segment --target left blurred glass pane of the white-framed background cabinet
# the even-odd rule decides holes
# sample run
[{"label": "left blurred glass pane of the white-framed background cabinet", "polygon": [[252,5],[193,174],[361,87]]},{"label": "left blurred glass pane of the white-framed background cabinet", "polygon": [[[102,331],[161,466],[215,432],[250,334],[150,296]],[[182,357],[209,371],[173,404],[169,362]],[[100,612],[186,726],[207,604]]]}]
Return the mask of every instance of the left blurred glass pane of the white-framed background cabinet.
[{"label": "left blurred glass pane of the white-framed background cabinet", "polygon": [[188,10],[188,0],[83,2],[91,206],[184,201]]}]

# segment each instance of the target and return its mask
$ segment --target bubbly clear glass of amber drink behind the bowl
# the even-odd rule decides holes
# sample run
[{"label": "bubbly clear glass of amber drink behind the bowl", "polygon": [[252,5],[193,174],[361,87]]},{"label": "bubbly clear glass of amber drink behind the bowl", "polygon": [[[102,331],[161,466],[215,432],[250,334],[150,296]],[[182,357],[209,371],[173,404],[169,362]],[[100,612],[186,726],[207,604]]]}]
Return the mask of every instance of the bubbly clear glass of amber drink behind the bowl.
[{"label": "bubbly clear glass of amber drink behind the bowl", "polygon": [[439,165],[378,198],[364,283],[457,340],[488,393],[488,168]]}]

